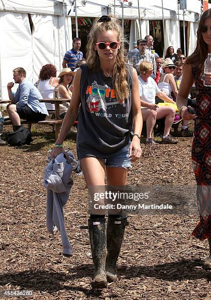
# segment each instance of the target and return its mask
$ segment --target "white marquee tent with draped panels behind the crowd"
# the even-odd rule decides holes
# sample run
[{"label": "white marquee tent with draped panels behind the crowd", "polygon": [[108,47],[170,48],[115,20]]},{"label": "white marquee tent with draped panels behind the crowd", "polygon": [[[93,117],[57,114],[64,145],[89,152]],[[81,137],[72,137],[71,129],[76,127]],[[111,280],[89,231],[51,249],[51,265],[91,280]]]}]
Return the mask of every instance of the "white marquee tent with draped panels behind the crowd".
[{"label": "white marquee tent with draped panels behind the crowd", "polygon": [[[119,0],[76,0],[76,3],[79,17],[97,18],[114,12],[119,19],[122,16]],[[149,20],[163,18],[162,0],[139,0],[139,3],[141,32],[138,0],[132,0],[131,7],[128,6],[128,2],[124,2],[124,19],[132,20],[130,48],[134,40],[149,34]],[[180,47],[177,0],[163,0],[163,5],[165,48],[172,45],[177,49]],[[199,0],[187,0],[187,12],[184,17],[185,21],[188,21],[188,54],[195,48],[200,12]],[[2,99],[8,98],[6,85],[12,80],[12,70],[18,66],[26,69],[27,78],[33,82],[37,80],[44,64],[52,63],[58,72],[61,70],[64,53],[72,47],[71,19],[74,17],[72,0],[0,0]],[[181,10],[179,19],[183,20]]]}]

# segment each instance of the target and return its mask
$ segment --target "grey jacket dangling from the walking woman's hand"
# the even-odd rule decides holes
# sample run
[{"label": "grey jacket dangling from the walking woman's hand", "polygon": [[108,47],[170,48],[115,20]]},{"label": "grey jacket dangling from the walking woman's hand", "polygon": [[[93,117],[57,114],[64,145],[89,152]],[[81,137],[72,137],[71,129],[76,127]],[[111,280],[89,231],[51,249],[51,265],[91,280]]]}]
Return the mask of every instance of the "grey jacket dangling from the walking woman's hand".
[{"label": "grey jacket dangling from the walking woman's hand", "polygon": [[[71,152],[67,152],[74,158]],[[72,256],[72,247],[65,229],[63,207],[67,203],[73,180],[70,178],[72,166],[61,153],[47,165],[44,175],[44,186],[47,188],[46,224],[47,231],[60,231],[65,256]]]}]

